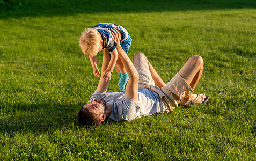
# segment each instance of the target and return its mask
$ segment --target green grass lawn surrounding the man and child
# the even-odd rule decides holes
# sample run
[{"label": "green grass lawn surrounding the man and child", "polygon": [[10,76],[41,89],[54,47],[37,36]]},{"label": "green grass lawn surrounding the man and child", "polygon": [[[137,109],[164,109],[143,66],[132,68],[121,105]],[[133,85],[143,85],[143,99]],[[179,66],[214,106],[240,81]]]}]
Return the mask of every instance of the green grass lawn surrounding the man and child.
[{"label": "green grass lawn surrounding the man and child", "polygon": [[[0,13],[1,160],[255,160],[255,1],[21,3]],[[79,126],[99,78],[78,39],[103,22],[125,27],[128,56],[144,53],[165,82],[202,56],[195,93],[208,103]],[[108,91],[117,84],[114,72]]]}]

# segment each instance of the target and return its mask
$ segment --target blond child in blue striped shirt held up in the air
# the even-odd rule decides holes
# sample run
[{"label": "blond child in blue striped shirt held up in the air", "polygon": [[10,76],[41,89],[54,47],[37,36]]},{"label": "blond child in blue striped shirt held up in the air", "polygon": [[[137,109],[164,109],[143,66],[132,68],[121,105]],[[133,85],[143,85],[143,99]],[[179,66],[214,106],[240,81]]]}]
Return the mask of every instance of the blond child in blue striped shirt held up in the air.
[{"label": "blond child in blue striped shirt held up in the air", "polygon": [[129,47],[131,46],[130,34],[120,25],[111,23],[101,23],[93,28],[87,28],[82,32],[81,38],[79,39],[79,46],[84,55],[90,57],[90,61],[93,68],[93,74],[99,77],[99,69],[97,68],[96,55],[102,49],[106,48],[104,52],[108,52],[111,56],[111,60],[108,64],[107,69],[101,74],[110,80],[112,71],[115,67],[116,72],[120,78],[118,82],[119,90],[125,89],[125,85],[128,82],[128,74],[123,67],[121,59],[118,57],[118,51],[116,50],[117,43],[111,35],[111,28],[119,30],[121,33],[120,45],[123,50],[128,53]]}]

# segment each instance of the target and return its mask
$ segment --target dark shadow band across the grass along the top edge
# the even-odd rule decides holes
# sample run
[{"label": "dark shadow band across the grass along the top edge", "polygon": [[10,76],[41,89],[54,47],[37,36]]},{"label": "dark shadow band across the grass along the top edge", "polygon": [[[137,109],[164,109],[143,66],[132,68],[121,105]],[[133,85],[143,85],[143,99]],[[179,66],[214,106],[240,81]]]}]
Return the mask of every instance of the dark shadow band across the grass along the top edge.
[{"label": "dark shadow band across the grass along the top edge", "polygon": [[1,18],[27,16],[66,16],[77,13],[140,13],[187,10],[241,9],[256,8],[254,0],[128,0],[128,1],[99,1],[99,0],[59,0],[32,1],[24,0],[23,6],[12,11],[1,11]]}]

